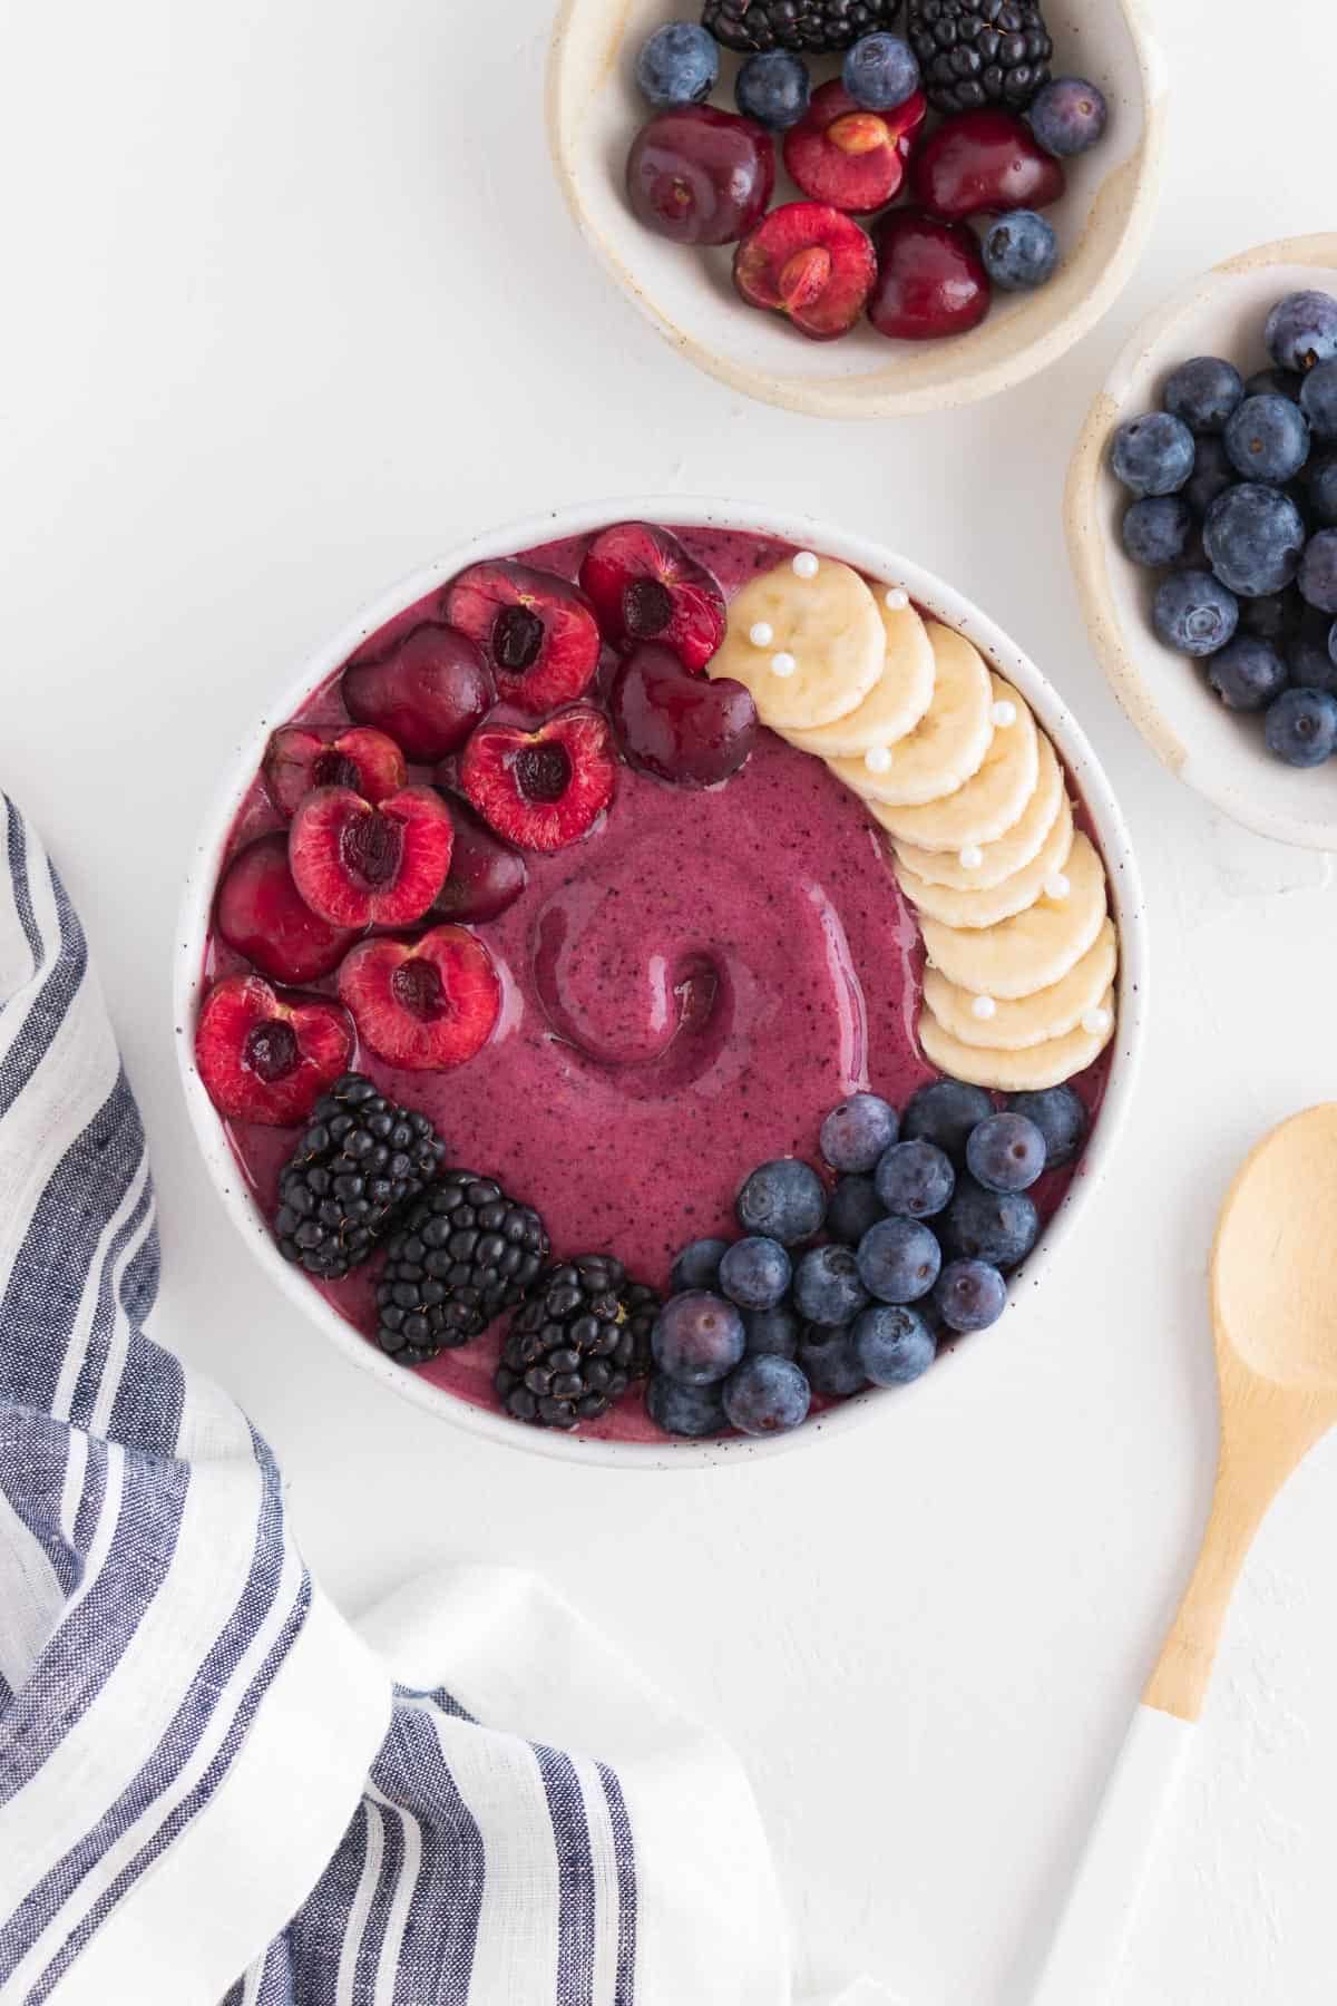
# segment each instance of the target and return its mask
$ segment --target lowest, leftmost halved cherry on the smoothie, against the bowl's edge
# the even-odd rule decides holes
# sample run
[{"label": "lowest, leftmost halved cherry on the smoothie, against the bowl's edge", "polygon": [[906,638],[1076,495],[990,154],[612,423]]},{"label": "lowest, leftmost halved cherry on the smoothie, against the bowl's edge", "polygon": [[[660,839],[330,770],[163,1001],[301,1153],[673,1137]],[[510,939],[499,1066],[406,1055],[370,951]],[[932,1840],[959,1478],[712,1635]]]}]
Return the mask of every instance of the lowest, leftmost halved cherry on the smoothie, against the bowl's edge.
[{"label": "lowest, leftmost halved cherry on the smoothie, against the bowl's edge", "polygon": [[263,975],[229,975],[204,997],[194,1063],[229,1121],[297,1127],[347,1073],[353,1043],[337,1003],[283,997]]}]

